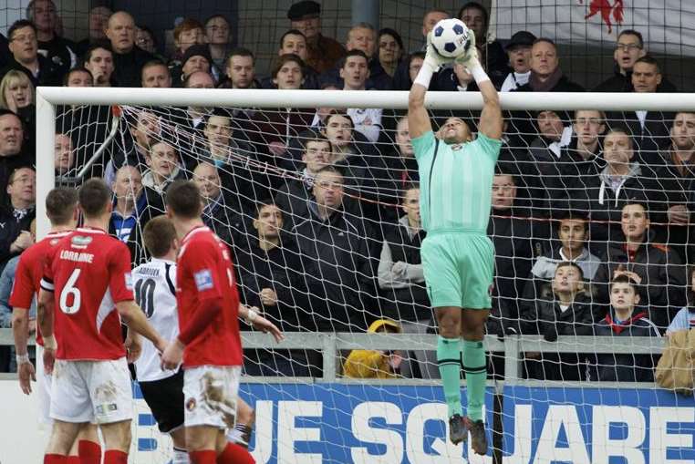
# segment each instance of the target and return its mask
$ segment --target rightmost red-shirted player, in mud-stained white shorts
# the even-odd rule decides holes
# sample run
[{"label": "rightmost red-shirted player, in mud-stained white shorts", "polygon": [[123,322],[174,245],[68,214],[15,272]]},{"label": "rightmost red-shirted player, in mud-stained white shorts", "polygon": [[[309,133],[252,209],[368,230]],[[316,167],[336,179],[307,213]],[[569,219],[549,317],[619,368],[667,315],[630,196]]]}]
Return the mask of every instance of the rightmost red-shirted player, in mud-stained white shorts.
[{"label": "rightmost red-shirted player, in mud-stained white shorts", "polygon": [[200,191],[177,180],[167,190],[167,215],[181,240],[176,268],[176,303],[181,333],[161,356],[171,369],[183,360],[186,446],[193,464],[246,464],[254,459],[227,442],[233,428],[242,366],[238,316],[277,341],[272,323],[239,304],[227,246],[201,219]]}]

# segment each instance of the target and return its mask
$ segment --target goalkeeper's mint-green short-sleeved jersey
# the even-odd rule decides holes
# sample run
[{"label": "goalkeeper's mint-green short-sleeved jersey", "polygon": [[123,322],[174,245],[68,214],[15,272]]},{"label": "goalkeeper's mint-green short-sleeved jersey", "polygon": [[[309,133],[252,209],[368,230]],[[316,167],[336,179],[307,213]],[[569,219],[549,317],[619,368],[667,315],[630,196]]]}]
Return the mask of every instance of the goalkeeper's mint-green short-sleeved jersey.
[{"label": "goalkeeper's mint-green short-sleeved jersey", "polygon": [[420,171],[420,217],[427,232],[485,234],[490,221],[494,165],[501,140],[447,145],[432,131],[412,139]]}]

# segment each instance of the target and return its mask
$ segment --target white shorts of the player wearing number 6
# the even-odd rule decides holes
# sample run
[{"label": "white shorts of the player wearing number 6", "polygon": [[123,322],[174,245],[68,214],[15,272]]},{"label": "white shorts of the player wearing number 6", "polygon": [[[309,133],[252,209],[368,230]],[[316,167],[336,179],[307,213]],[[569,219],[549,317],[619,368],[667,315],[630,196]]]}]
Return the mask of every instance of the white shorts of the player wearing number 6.
[{"label": "white shorts of the player wearing number 6", "polygon": [[125,357],[109,361],[56,360],[50,417],[64,422],[111,424],[133,417]]}]

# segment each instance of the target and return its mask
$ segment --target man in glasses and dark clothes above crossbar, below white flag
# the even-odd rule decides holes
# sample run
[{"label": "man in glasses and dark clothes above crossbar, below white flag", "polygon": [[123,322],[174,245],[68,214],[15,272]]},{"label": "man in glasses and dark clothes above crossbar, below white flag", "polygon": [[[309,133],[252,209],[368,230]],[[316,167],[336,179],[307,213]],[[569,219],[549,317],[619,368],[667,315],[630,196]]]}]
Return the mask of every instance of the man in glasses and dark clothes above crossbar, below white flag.
[{"label": "man in glasses and dark clothes above crossbar, below white flag", "polygon": [[[642,34],[635,29],[623,29],[617,35],[616,50],[613,52],[615,60],[614,74],[601,82],[595,92],[629,92],[632,90],[632,67],[635,62],[647,55],[644,48]],[[659,90],[663,92],[675,92],[676,88],[668,80],[662,79]]]}]

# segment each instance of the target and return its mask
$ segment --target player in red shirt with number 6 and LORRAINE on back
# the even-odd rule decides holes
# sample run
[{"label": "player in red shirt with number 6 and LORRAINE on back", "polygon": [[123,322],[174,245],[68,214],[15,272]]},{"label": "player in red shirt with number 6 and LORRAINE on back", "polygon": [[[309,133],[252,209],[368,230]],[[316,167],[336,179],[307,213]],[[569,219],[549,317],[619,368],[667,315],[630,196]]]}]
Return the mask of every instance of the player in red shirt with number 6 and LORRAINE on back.
[{"label": "player in red shirt with number 6 and LORRAINE on back", "polygon": [[56,372],[53,431],[44,464],[66,463],[79,428],[92,421],[104,438],[104,464],[126,464],[133,399],[120,324],[161,351],[166,341],[133,301],[128,247],[106,232],[109,187],[103,180],[87,180],[78,198],[84,226],[60,239],[48,254],[38,296],[44,365],[47,372]]}]

